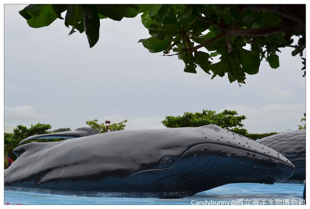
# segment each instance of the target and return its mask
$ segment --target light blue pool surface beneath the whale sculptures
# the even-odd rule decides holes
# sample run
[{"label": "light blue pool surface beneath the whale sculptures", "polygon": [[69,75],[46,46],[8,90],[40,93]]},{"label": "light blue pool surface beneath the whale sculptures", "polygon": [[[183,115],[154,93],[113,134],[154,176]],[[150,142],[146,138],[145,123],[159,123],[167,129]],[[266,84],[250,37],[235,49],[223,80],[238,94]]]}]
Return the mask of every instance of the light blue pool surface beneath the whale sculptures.
[{"label": "light blue pool surface beneath the whale sculptures", "polygon": [[[16,205],[191,205],[191,204],[233,204],[243,205],[283,205],[290,202],[300,203],[304,190],[303,184],[275,183],[234,183],[223,185],[192,197],[181,199],[157,198],[117,198],[117,197],[85,197],[55,194],[37,194],[30,192],[4,191],[4,204]],[[239,201],[238,201],[239,200]],[[240,200],[242,200],[240,202]],[[281,200],[281,202],[279,202]],[[199,202],[200,201],[200,202]],[[283,201],[283,202],[282,202]]]}]

